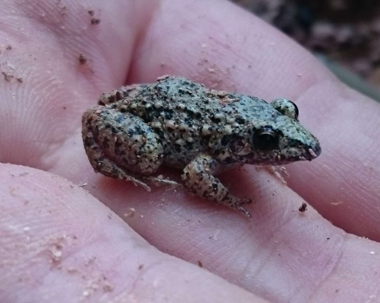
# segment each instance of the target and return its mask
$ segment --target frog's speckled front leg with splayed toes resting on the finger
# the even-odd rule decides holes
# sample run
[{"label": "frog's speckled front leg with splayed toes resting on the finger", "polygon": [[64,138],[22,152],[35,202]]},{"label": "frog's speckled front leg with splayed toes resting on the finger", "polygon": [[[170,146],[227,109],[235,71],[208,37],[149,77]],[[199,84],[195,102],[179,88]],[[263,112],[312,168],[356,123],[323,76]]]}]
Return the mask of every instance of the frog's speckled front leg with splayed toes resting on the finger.
[{"label": "frog's speckled front leg with splayed toes resting on the finger", "polygon": [[212,156],[206,154],[197,156],[184,168],[182,180],[185,187],[200,197],[212,200],[217,204],[236,208],[250,217],[249,211],[245,210],[241,205],[250,203],[252,200],[239,199],[229,193],[220,180],[213,176],[218,172],[219,166],[220,164]]}]

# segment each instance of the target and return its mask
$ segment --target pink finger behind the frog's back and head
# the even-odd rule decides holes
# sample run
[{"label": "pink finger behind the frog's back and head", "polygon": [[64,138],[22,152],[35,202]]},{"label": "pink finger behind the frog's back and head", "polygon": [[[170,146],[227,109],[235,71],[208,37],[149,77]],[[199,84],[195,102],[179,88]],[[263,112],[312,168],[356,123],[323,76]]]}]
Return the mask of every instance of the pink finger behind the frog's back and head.
[{"label": "pink finger behind the frog's back and head", "polygon": [[129,82],[177,74],[267,101],[293,99],[323,152],[312,163],[289,165],[289,185],[336,226],[380,239],[379,104],[228,2],[163,1],[134,54]]}]

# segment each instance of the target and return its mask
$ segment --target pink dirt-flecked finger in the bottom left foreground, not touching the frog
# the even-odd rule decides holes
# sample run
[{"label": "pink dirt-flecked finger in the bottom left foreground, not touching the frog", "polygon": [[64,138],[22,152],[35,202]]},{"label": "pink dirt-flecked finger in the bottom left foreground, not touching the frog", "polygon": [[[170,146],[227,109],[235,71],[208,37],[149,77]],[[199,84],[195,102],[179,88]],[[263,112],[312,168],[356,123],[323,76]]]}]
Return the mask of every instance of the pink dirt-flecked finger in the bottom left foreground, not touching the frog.
[{"label": "pink dirt-flecked finger in the bottom left foreground, not touching the frog", "polygon": [[266,302],[161,253],[62,177],[0,165],[1,302]]}]

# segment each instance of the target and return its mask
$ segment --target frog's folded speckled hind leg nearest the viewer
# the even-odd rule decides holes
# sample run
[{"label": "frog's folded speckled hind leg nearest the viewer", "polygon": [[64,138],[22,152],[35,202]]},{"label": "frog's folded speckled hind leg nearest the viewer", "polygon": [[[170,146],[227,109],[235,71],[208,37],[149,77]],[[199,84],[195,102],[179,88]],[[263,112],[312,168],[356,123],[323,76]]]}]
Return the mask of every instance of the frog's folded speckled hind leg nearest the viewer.
[{"label": "frog's folded speckled hind leg nearest the viewer", "polygon": [[141,118],[109,106],[86,110],[82,137],[90,163],[96,172],[132,181],[150,190],[150,180],[163,162],[160,137]]}]

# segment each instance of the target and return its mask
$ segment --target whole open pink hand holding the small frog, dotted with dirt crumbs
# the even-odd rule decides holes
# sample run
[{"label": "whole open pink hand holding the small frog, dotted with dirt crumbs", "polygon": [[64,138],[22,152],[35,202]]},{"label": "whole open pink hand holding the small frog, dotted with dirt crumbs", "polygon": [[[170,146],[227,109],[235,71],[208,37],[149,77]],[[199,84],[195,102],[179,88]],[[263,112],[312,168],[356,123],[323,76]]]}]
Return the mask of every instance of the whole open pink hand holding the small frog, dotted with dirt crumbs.
[{"label": "whole open pink hand holding the small frog, dotted with dirt crumbs", "polygon": [[[380,106],[229,2],[102,3],[0,3],[0,68],[22,78],[0,80],[0,161],[39,169],[0,164],[0,301],[58,301],[62,289],[65,302],[379,300]],[[94,174],[84,110],[163,74],[292,99],[321,156],[287,166],[290,188],[250,166],[222,176],[255,198],[251,219],[179,189],[147,193]]]}]

